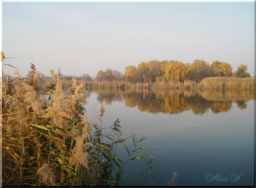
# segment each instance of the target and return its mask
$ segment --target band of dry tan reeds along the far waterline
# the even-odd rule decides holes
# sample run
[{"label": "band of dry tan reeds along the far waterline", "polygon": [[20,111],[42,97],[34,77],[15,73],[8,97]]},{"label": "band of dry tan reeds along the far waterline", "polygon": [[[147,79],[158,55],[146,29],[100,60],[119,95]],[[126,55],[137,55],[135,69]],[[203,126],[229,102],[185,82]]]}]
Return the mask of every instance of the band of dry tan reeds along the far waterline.
[{"label": "band of dry tan reeds along the far waterline", "polygon": [[[45,80],[45,85],[52,84],[52,80]],[[63,87],[69,88],[72,81],[62,80]],[[171,88],[171,89],[236,89],[255,90],[255,77],[207,77],[201,81],[185,80],[183,82],[154,82],[131,83],[125,81],[83,81],[78,80],[85,88]]]}]

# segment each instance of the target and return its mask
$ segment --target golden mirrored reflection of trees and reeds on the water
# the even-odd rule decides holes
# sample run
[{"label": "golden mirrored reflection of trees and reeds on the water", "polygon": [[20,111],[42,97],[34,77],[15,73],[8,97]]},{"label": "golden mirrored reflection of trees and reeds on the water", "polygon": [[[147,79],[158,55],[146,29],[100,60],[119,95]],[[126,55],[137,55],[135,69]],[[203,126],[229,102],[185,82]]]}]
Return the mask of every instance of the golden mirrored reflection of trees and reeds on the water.
[{"label": "golden mirrored reflection of trees and reeds on the water", "polygon": [[98,93],[97,100],[107,105],[123,102],[127,107],[138,107],[141,112],[177,114],[192,110],[194,114],[227,112],[232,102],[246,109],[255,100],[250,90],[166,90],[166,89],[90,89]]}]

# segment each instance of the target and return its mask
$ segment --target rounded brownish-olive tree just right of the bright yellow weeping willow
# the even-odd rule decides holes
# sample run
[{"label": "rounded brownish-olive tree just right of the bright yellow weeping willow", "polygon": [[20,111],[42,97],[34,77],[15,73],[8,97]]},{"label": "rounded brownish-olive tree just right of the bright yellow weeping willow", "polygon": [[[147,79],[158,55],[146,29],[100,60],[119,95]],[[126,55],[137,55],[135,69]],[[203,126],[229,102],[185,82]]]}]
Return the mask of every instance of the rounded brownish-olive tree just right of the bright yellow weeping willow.
[{"label": "rounded brownish-olive tree just right of the bright yellow weeping willow", "polygon": [[195,59],[188,69],[188,79],[200,81],[211,76],[211,66],[204,60]]}]

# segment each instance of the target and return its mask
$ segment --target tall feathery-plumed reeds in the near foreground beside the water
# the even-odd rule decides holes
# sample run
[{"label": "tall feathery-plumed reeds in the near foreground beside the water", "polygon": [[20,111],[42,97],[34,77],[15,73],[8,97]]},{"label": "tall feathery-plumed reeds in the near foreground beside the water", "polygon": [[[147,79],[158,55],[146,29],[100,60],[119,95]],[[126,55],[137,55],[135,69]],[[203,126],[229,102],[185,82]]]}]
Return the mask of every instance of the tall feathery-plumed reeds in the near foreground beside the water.
[{"label": "tall feathery-plumed reeds in the near foreground beside the water", "polygon": [[[84,117],[84,84],[88,87],[89,83],[79,83],[74,76],[63,98],[63,85],[68,82],[51,70],[53,83],[44,87],[42,74],[33,64],[30,67],[26,80],[15,71],[16,76],[7,76],[3,83],[3,186],[124,186],[126,165],[141,159],[145,165],[128,186],[155,185],[159,169],[153,167],[153,157],[139,155],[140,150],[155,147],[141,146],[144,135],[137,138],[131,132],[130,137],[123,138],[118,118],[106,129],[102,124],[103,103],[97,112],[100,124]],[[128,139],[133,148],[125,145]],[[125,147],[127,160],[116,155],[119,147]],[[174,172],[166,185],[176,185],[176,177]]]}]

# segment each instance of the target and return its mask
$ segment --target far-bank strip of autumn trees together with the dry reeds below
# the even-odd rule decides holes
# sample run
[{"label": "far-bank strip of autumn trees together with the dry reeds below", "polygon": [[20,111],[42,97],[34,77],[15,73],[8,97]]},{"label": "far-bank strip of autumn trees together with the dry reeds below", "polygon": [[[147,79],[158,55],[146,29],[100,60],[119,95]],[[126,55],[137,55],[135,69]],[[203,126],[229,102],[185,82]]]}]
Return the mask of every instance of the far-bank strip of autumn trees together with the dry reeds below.
[{"label": "far-bank strip of autumn trees together with the dry reeds below", "polygon": [[[65,87],[71,85],[70,77],[63,76]],[[255,90],[255,77],[247,72],[247,65],[241,64],[233,73],[229,63],[194,60],[190,65],[178,60],[151,60],[139,65],[127,66],[125,74],[117,70],[99,70],[96,80],[88,74],[79,77],[79,83],[86,88],[173,88],[173,89],[249,89]]]}]

